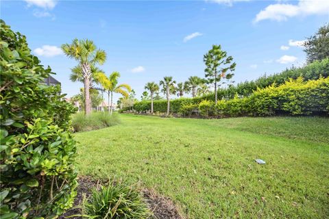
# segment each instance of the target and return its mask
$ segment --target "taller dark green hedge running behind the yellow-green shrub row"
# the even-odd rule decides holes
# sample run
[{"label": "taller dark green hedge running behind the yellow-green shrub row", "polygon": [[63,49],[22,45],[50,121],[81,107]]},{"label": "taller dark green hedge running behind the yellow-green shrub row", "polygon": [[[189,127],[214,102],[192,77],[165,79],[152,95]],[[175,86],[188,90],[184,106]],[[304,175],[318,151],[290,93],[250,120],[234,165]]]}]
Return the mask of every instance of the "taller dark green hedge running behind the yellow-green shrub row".
[{"label": "taller dark green hedge running behind the yellow-green shrub row", "polygon": [[[282,71],[282,73],[263,76],[255,81],[246,81],[239,83],[237,86],[231,86],[226,89],[219,89],[217,94],[219,99],[233,99],[235,95],[239,97],[245,97],[253,94],[257,88],[266,88],[268,86],[280,86],[288,79],[297,79],[303,77],[306,81],[319,79],[319,77],[329,76],[329,59],[322,61],[316,61],[307,66],[301,68],[291,68]],[[205,96],[191,98],[174,99],[170,101],[170,112],[180,112],[182,105],[194,105],[199,104],[203,100],[213,101],[215,100],[215,94],[208,94]],[[151,110],[151,101],[140,101],[134,104],[134,110],[137,112],[146,112]],[[154,101],[154,112],[167,112],[167,101],[160,100]]]}]

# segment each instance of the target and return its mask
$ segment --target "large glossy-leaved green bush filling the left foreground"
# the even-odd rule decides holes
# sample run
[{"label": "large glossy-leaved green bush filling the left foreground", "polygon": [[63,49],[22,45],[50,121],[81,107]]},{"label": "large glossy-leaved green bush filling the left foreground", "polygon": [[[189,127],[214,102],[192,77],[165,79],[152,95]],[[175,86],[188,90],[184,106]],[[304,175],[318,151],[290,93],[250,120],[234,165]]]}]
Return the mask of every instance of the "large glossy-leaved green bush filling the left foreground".
[{"label": "large glossy-leaved green bush filling the left foreground", "polygon": [[56,218],[77,186],[71,114],[51,68],[31,54],[25,36],[0,21],[0,218]]}]

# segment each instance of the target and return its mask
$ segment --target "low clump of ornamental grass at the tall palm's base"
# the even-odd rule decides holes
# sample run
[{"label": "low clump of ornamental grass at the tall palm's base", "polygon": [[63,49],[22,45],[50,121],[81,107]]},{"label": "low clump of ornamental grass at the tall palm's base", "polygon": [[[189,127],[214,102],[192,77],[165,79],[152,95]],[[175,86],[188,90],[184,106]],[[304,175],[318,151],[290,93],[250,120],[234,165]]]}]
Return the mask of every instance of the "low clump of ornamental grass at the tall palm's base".
[{"label": "low clump of ornamental grass at the tall palm's base", "polygon": [[117,114],[108,114],[108,112],[92,112],[86,116],[83,112],[73,115],[72,127],[74,131],[91,131],[102,129],[112,125],[119,124]]}]

